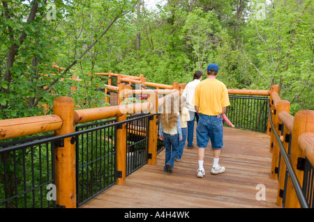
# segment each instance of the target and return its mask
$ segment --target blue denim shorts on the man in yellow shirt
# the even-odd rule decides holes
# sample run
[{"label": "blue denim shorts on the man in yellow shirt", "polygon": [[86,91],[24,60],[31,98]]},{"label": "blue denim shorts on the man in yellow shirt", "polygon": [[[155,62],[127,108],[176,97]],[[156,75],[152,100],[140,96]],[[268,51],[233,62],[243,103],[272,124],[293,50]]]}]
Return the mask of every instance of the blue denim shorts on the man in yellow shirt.
[{"label": "blue denim shorts on the man in yellow shirt", "polygon": [[206,148],[209,138],[213,150],[223,148],[223,121],[221,115],[207,116],[200,113],[196,127],[197,146]]}]

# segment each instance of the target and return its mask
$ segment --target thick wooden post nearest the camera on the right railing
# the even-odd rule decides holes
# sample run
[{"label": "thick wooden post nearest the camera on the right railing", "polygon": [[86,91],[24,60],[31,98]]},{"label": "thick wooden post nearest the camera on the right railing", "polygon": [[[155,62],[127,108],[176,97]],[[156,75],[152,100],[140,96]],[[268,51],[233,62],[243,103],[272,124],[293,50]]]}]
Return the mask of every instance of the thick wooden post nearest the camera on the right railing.
[{"label": "thick wooden post nearest the camera on the right railing", "polygon": [[[301,160],[305,157],[305,154],[299,148],[298,139],[299,136],[301,136],[301,134],[303,134],[304,132],[314,132],[314,111],[302,110],[298,111],[294,115],[290,158],[292,167],[294,168],[294,172],[297,175],[301,187],[303,186],[304,171],[302,171],[301,166],[298,164],[298,161],[301,162]],[[299,200],[297,198],[297,194],[294,191],[291,180],[287,180],[285,207],[300,207]]]}]

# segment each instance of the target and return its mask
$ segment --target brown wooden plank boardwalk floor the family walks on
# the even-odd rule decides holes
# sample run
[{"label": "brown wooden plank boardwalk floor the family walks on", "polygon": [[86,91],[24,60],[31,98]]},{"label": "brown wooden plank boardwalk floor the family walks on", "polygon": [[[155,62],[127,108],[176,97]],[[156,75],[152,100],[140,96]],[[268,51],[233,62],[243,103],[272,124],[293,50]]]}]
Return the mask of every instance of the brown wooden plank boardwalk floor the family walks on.
[{"label": "brown wooden plank boardwalk floor the family walks on", "polygon": [[[194,141],[196,147],[196,139]],[[197,148],[184,148],[181,162],[174,163],[173,173],[165,173],[165,150],[157,164],[145,165],[128,177],[126,184],[114,185],[89,200],[82,207],[111,208],[209,208],[209,207],[278,207],[277,180],[270,179],[271,152],[269,136],[241,129],[224,128],[224,148],[219,164],[225,173],[211,175],[212,151],[205,152],[206,175],[196,177]],[[266,200],[257,185],[265,188]]]}]

